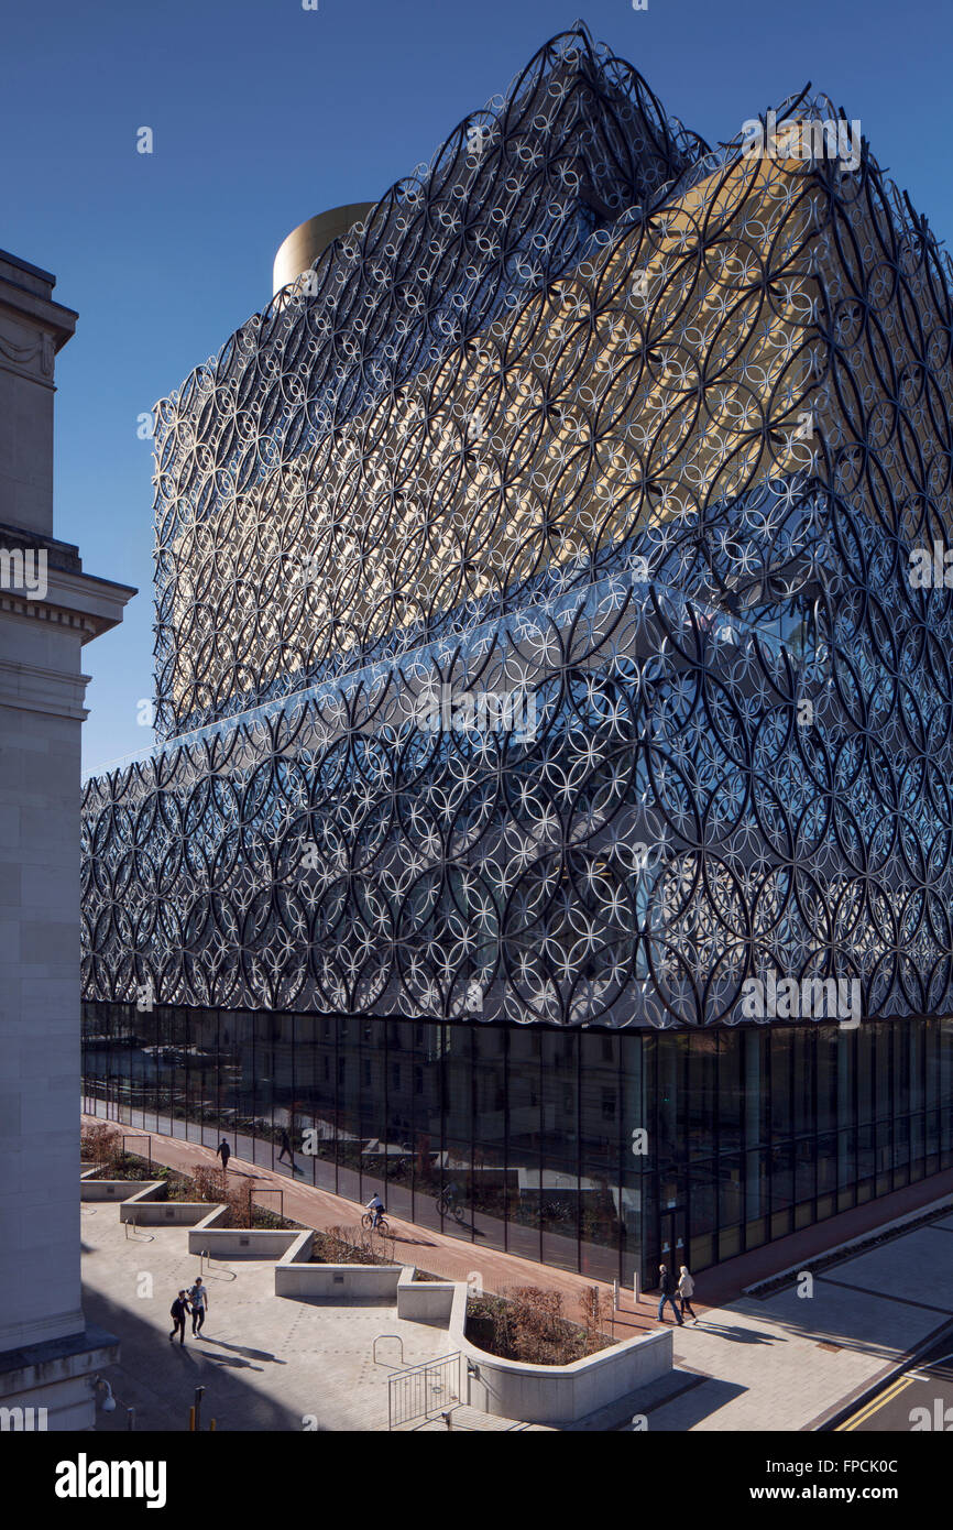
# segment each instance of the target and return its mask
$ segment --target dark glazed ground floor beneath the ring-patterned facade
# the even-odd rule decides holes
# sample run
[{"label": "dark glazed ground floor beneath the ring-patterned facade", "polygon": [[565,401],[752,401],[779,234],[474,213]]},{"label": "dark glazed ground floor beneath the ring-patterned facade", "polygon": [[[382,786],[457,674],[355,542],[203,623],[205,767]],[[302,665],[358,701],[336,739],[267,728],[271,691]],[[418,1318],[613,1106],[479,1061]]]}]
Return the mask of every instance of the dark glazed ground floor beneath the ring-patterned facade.
[{"label": "dark glazed ground floor beneath the ring-patterned facade", "polygon": [[[953,1166],[953,1019],[566,1028],[87,1002],[86,1109],[655,1284]],[[288,1141],[286,1141],[288,1138]]]}]

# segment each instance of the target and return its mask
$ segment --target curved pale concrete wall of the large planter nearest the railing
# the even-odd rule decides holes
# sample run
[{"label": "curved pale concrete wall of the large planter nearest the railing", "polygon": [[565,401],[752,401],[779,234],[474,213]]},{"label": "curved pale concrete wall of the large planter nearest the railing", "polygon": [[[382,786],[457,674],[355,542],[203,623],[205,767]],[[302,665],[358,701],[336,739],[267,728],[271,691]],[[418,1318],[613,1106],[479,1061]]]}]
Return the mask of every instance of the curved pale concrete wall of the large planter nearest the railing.
[{"label": "curved pale concrete wall of the large planter nearest the railing", "polygon": [[672,1371],[672,1330],[627,1339],[572,1365],[500,1360],[471,1343],[463,1325],[467,1285],[456,1284],[450,1348],[471,1362],[470,1406],[531,1424],[569,1424]]}]

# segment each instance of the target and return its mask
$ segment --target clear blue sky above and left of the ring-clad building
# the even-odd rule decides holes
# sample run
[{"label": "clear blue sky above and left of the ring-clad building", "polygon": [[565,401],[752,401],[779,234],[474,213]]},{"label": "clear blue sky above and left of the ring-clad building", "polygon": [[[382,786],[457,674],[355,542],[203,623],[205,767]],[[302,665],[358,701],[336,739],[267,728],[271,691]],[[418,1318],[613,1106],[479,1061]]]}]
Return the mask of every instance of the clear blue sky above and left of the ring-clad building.
[{"label": "clear blue sky above and left of the ring-clad building", "polygon": [[[84,767],[148,745],[151,450],[138,416],[271,295],[285,234],[372,200],[587,21],[711,142],[808,81],[953,237],[948,0],[44,0],[3,21],[0,248],[80,312],[60,355],[57,536],[136,584],[86,650]],[[136,130],[154,153],[136,153]]]}]

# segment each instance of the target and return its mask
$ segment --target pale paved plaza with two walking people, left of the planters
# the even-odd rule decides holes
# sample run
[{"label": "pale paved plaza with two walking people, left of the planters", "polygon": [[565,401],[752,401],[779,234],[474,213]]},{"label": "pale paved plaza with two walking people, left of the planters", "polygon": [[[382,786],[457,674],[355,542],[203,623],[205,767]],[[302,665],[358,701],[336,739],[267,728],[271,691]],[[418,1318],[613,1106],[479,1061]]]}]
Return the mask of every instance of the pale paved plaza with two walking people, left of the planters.
[{"label": "pale paved plaza with two walking people, left of the planters", "polygon": [[[447,1351],[439,1328],[401,1320],[393,1307],[326,1307],[274,1294],[274,1262],[229,1259],[203,1274],[210,1313],[200,1337],[168,1342],[168,1308],[199,1274],[188,1229],[130,1230],[116,1206],[83,1207],[83,1284],[89,1320],[121,1339],[106,1372],[116,1395],[96,1429],[182,1431],[196,1386],[202,1423],[219,1429],[387,1429],[387,1377]],[[142,1294],[141,1294],[142,1293]],[[395,1334],[378,1346],[378,1334]],[[399,1342],[398,1342],[399,1340]],[[309,1420],[304,1424],[304,1420]]]}]

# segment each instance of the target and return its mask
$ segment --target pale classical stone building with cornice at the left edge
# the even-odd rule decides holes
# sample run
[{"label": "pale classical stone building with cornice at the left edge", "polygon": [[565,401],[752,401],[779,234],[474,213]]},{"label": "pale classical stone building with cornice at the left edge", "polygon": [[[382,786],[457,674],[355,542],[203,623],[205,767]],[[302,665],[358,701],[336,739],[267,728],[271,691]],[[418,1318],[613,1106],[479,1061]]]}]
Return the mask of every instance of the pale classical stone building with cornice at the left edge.
[{"label": "pale classical stone building with cornice at the left edge", "polygon": [[81,649],[135,591],[52,536],[54,285],[0,251],[0,1426],[83,1429],[118,1345],[80,1299]]}]

